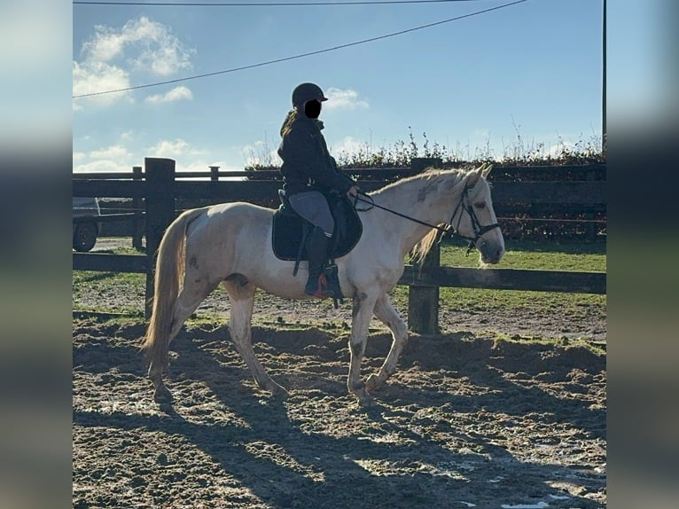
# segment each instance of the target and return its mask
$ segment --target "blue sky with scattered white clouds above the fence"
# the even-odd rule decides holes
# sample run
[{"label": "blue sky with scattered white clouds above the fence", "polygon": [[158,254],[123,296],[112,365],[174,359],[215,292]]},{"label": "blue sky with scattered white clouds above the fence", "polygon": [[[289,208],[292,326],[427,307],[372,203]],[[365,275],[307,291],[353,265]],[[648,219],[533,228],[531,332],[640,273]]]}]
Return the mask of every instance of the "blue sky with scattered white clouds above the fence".
[{"label": "blue sky with scattered white clouds above the fence", "polygon": [[74,4],[74,171],[277,164],[300,82],[329,98],[335,157],[411,135],[464,160],[600,143],[602,0],[250,4]]}]

